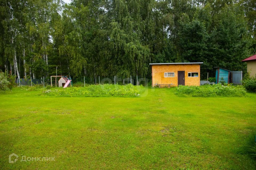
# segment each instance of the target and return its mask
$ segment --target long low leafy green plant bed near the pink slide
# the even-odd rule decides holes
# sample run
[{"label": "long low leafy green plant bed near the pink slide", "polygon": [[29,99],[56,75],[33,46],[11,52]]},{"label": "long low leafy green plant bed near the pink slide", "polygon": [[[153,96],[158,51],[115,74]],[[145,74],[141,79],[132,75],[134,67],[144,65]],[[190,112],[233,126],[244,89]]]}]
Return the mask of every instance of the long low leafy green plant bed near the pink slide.
[{"label": "long low leafy green plant bed near the pink slide", "polygon": [[43,90],[42,94],[47,96],[57,97],[103,97],[103,96],[126,96],[136,97],[139,96],[144,90],[144,87],[133,86],[132,84],[113,85],[89,85],[85,87],[68,87],[68,88],[53,88]]}]

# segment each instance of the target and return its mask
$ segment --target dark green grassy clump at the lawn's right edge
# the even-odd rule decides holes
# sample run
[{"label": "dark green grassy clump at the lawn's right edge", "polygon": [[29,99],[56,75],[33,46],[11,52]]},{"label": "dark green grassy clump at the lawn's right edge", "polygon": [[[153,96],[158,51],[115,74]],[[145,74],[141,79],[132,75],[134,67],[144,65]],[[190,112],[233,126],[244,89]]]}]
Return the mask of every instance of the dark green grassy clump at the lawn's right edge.
[{"label": "dark green grassy clump at the lawn's right edge", "polygon": [[245,145],[245,152],[256,160],[256,132],[249,135]]}]

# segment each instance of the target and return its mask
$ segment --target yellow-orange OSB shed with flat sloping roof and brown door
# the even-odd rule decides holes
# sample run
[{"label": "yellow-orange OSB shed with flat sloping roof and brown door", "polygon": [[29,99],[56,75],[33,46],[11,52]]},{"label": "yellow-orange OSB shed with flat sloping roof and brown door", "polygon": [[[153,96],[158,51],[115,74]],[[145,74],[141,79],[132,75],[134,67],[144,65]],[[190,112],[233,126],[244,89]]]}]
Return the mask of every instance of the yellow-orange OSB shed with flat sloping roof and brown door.
[{"label": "yellow-orange OSB shed with flat sloping roof and brown door", "polygon": [[200,86],[200,64],[197,63],[150,63],[152,86]]}]

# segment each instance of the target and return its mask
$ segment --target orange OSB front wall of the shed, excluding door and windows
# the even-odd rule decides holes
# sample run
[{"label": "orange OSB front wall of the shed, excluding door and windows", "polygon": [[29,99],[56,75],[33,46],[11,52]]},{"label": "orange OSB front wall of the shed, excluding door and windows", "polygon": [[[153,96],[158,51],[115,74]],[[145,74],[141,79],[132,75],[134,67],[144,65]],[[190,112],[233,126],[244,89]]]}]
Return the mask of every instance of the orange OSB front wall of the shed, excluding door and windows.
[{"label": "orange OSB front wall of the shed, excluding door and windows", "polygon": [[[185,86],[200,86],[199,64],[152,65],[152,85],[173,84],[173,86],[178,86],[178,71],[185,71]],[[164,73],[167,72],[174,73],[174,77],[165,77]],[[188,77],[189,72],[198,72],[198,77]]]}]

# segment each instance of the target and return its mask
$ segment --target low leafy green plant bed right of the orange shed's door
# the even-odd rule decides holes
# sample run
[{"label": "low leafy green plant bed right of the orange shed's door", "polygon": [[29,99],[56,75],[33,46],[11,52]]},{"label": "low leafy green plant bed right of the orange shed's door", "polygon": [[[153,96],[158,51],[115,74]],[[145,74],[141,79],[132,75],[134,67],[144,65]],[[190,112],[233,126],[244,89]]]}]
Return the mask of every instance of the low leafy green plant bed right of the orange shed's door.
[{"label": "low leafy green plant bed right of the orange shed's door", "polygon": [[178,96],[191,97],[242,97],[246,90],[243,86],[231,86],[221,84],[207,84],[203,86],[179,86],[175,92]]}]

